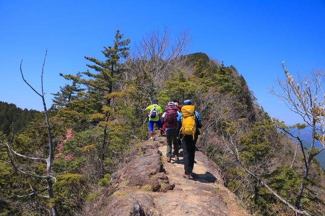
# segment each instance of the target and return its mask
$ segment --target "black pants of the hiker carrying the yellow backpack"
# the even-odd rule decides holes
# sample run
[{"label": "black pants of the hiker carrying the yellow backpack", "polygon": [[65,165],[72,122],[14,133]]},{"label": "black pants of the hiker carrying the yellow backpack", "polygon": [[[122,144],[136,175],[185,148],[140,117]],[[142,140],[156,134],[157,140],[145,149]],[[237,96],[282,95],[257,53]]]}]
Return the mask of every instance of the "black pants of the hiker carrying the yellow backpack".
[{"label": "black pants of the hiker carrying the yellow backpack", "polygon": [[192,136],[183,136],[182,147],[185,175],[189,175],[193,171],[197,139],[197,136],[194,140]]}]

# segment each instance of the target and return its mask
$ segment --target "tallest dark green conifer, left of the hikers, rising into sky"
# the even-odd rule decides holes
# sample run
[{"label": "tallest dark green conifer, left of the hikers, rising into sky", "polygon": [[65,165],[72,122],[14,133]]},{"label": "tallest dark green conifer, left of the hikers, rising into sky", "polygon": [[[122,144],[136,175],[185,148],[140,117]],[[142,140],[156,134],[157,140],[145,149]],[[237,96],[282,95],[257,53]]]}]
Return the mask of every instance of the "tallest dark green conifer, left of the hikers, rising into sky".
[{"label": "tallest dark green conifer, left of the hikers, rising into sky", "polygon": [[102,175],[104,176],[104,160],[105,160],[105,150],[108,144],[108,133],[112,128],[112,116],[114,108],[114,97],[116,92],[118,92],[118,82],[121,80],[121,75],[125,71],[125,68],[121,62],[129,55],[130,43],[129,39],[122,40],[123,34],[119,30],[115,33],[114,45],[113,47],[104,47],[102,51],[105,56],[105,60],[99,60],[94,57],[85,57],[87,60],[93,64],[87,64],[87,66],[93,70],[95,73],[89,70],[81,73],[87,78],[82,79],[78,76],[65,75],[64,78],[72,80],[77,84],[82,84],[87,87],[89,104],[93,107],[94,113],[92,118],[94,121],[98,122],[98,126],[104,129],[104,138],[102,143],[102,153],[100,160],[102,163]]}]

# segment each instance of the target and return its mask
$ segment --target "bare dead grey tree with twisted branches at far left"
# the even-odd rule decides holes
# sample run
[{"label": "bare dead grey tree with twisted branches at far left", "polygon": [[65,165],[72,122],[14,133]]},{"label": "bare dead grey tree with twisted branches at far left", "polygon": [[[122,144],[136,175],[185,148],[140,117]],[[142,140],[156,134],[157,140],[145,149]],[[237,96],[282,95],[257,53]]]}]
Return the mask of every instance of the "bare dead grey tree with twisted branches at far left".
[{"label": "bare dead grey tree with twisted branches at far left", "polygon": [[[11,165],[14,167],[14,169],[18,172],[20,172],[21,174],[28,176],[28,177],[34,177],[34,178],[39,178],[39,179],[44,179],[46,181],[47,187],[43,190],[40,191],[35,191],[31,185],[30,185],[30,189],[31,191],[26,194],[26,195],[16,195],[16,194],[11,194],[14,195],[18,198],[22,198],[22,197],[28,197],[28,196],[32,196],[32,195],[42,195],[42,197],[46,198],[46,199],[52,199],[54,198],[54,194],[53,194],[53,183],[52,183],[52,179],[54,179],[54,181],[56,182],[56,178],[53,176],[53,173],[51,172],[51,167],[52,167],[52,160],[53,160],[53,141],[52,141],[52,134],[51,134],[51,127],[50,127],[50,122],[49,122],[49,116],[48,116],[48,111],[47,111],[47,107],[46,107],[46,103],[45,103],[45,93],[44,93],[44,88],[43,88],[43,74],[44,74],[44,65],[45,65],[45,61],[46,61],[46,56],[47,56],[47,50],[45,53],[45,57],[44,57],[44,61],[43,61],[43,65],[42,65],[42,72],[41,72],[41,92],[37,91],[34,87],[32,87],[24,78],[23,72],[22,72],[22,60],[20,62],[20,74],[21,77],[23,79],[23,81],[37,94],[42,98],[42,102],[43,102],[43,108],[44,108],[44,114],[45,114],[45,120],[46,120],[46,128],[47,128],[47,133],[48,133],[48,139],[49,139],[49,156],[48,158],[38,158],[38,157],[30,157],[30,156],[26,156],[26,155],[22,155],[18,152],[16,152],[15,150],[13,150],[9,143],[7,142],[3,142],[2,143],[7,147],[7,153],[8,153],[8,157],[10,159],[10,163]],[[38,174],[34,174],[34,173],[29,173],[26,172],[22,169],[20,169],[17,164],[15,163],[13,156],[18,156],[24,159],[28,159],[28,160],[34,160],[34,161],[41,161],[46,163],[46,174],[45,175],[38,175]],[[55,184],[54,182],[54,184]],[[44,193],[48,193],[47,196],[43,195]],[[51,207],[51,211],[52,211],[52,215],[58,215],[56,206],[53,205]]]}]

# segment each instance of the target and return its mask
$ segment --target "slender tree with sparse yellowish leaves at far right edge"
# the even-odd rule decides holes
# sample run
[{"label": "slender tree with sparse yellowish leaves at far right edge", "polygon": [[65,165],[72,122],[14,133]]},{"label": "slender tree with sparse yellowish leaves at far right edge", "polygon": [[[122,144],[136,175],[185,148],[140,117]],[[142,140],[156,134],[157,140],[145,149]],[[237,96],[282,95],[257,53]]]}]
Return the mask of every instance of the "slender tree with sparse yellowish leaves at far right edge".
[{"label": "slender tree with sparse yellowish leaves at far right edge", "polygon": [[[307,153],[299,133],[298,135],[293,134],[290,131],[292,127],[285,126],[283,122],[279,122],[277,126],[289,136],[297,139],[303,154],[305,169],[296,198],[296,208],[299,209],[306,188],[311,161],[325,149],[325,73],[321,70],[313,70],[311,77],[301,79],[298,75],[298,79],[295,81],[285,68],[284,62],[282,62],[282,67],[286,76],[284,82],[278,80],[278,86],[282,93],[278,93],[274,89],[271,92],[282,99],[293,113],[302,117],[304,124],[297,124],[296,128],[303,129],[307,125],[312,129],[311,148]],[[315,147],[317,140],[321,148]]]}]

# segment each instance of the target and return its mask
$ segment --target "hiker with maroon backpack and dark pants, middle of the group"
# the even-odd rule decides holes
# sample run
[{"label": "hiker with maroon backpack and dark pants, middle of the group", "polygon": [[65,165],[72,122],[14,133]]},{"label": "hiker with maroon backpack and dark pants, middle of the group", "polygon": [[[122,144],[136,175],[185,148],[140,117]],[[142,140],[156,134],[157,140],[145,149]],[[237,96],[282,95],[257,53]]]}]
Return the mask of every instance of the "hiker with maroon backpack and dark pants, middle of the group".
[{"label": "hiker with maroon backpack and dark pants, middle of the group", "polygon": [[177,107],[174,102],[169,102],[165,108],[165,113],[163,114],[165,130],[166,130],[166,140],[167,140],[167,162],[171,162],[172,158],[172,145],[174,145],[174,156],[175,161],[178,161],[178,141],[177,141],[177,118],[178,115]]}]

